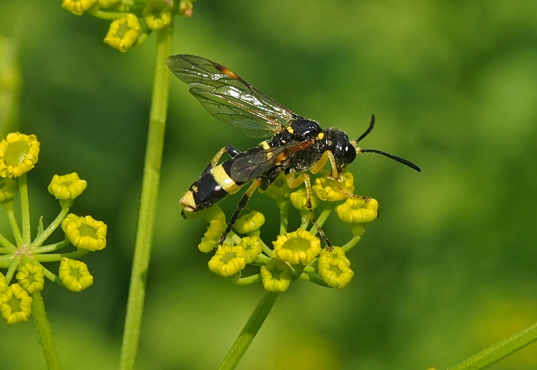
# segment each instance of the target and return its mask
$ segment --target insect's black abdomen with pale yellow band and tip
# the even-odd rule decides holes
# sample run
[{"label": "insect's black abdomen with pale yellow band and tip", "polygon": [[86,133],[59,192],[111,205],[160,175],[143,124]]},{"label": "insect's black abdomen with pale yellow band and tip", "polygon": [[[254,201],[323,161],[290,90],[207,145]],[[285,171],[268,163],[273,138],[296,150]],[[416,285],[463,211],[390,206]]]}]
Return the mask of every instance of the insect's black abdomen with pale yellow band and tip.
[{"label": "insect's black abdomen with pale yellow band and tip", "polygon": [[180,200],[186,211],[201,211],[240,190],[244,183],[235,182],[229,175],[232,164],[233,158],[214,166],[188,188]]}]

